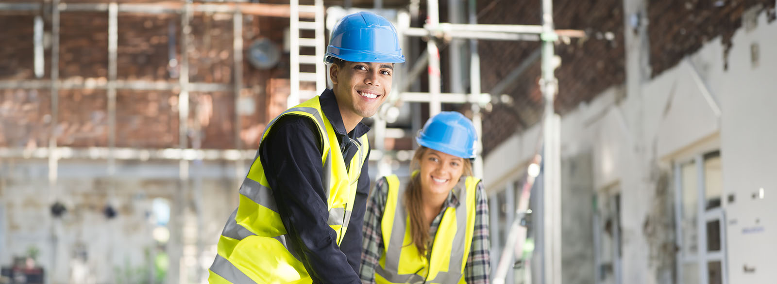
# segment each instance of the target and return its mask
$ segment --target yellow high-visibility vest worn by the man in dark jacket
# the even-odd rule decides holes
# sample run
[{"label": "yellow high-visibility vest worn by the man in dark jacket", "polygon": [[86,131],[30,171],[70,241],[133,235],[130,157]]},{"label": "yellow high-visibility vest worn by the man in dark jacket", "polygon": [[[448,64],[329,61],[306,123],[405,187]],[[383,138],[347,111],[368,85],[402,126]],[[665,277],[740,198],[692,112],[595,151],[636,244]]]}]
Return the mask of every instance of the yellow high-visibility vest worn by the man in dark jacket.
[{"label": "yellow high-visibility vest worn by the man in dark jacket", "polygon": [[[367,135],[357,140],[358,154],[346,168],[334,127],[321,109],[319,96],[287,109],[273,119],[262,139],[281,116],[305,116],[319,128],[323,151],[322,184],[328,192],[327,223],[343,240],[354,207],[361,168],[370,149]],[[333,147],[332,147],[333,146]],[[286,243],[286,228],[280,220],[272,190],[256,155],[246,179],[240,186],[240,204],[221,232],[218,255],[209,269],[211,283],[311,283],[312,279],[296,253]]]}]

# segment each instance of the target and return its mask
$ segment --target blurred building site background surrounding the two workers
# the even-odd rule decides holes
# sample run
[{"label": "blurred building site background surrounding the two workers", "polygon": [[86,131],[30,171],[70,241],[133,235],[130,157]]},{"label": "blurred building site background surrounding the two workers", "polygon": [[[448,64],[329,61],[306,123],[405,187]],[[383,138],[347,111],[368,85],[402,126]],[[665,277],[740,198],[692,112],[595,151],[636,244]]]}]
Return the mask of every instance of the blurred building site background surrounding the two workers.
[{"label": "blurred building site background surrounding the two workers", "polygon": [[265,126],[363,10],[407,57],[371,178],[472,118],[494,280],[775,283],[775,1],[553,0],[544,34],[542,5],[0,1],[0,283],[207,282]]}]

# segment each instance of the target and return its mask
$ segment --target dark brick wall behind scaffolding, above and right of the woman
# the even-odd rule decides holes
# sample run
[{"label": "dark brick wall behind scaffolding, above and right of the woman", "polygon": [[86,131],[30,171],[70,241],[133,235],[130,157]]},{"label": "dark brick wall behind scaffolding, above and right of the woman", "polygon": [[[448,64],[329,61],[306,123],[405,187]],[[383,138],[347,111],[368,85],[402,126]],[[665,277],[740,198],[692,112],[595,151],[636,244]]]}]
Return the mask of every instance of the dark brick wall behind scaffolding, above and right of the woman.
[{"label": "dark brick wall behind scaffolding, above and right of the woman", "polygon": [[[447,5],[441,3],[441,5]],[[478,2],[478,23],[539,25],[540,1]],[[583,29],[589,37],[557,43],[562,60],[556,70],[559,95],[556,109],[566,113],[625,78],[623,11],[620,0],[556,0],[553,17],[556,29]],[[447,12],[441,12],[447,16]],[[538,49],[538,42],[479,41],[483,92],[490,90]],[[531,65],[513,88],[504,93],[512,102],[495,103],[483,119],[483,149],[487,154],[516,131],[524,130],[542,118],[542,93],[538,86],[539,61]],[[447,80],[447,79],[444,79]]]}]

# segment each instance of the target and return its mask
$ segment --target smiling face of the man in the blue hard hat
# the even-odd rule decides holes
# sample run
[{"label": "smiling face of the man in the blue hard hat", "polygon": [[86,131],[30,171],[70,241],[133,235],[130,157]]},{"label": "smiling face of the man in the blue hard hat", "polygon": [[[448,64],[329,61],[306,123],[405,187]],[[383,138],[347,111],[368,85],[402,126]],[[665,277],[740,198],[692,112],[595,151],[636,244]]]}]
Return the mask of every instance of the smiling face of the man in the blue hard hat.
[{"label": "smiling face of the man in the blue hard hat", "polygon": [[[392,63],[343,62],[329,70],[343,120],[370,117],[391,93]],[[359,117],[357,117],[359,116]]]}]

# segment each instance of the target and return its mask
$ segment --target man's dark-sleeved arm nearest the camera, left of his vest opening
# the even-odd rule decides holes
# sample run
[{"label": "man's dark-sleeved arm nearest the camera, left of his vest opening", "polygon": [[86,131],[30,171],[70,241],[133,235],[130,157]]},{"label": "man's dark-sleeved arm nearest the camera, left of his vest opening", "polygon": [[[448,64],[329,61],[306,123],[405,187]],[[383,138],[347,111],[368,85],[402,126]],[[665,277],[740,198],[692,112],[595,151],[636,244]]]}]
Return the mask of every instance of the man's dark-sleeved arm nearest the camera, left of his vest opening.
[{"label": "man's dark-sleeved arm nearest the camera, left of his vest opening", "polygon": [[314,283],[358,283],[336,243],[329,219],[317,126],[308,118],[279,119],[260,146],[267,182],[273,189],[288,242],[300,252]]}]

